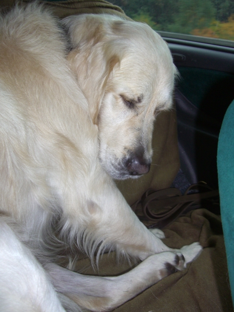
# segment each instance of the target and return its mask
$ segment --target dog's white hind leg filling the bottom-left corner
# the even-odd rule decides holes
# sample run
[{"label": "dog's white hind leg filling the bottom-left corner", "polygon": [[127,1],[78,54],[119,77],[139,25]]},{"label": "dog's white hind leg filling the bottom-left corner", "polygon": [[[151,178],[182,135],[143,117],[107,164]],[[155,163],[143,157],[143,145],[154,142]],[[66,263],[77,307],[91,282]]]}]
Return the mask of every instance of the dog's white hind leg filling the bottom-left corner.
[{"label": "dog's white hind leg filling the bottom-left corner", "polygon": [[0,311],[65,312],[47,274],[0,218]]}]

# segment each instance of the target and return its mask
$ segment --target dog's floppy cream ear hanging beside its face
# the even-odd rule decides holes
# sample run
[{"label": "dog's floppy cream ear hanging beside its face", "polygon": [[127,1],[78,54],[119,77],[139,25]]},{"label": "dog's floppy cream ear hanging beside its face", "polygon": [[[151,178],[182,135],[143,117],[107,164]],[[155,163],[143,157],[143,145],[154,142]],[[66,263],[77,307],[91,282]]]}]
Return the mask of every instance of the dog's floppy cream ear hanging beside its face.
[{"label": "dog's floppy cream ear hanging beside its face", "polygon": [[68,61],[89,104],[89,113],[98,124],[99,109],[108,80],[120,64],[119,49],[110,44],[110,25],[101,16],[65,19],[73,48]]}]

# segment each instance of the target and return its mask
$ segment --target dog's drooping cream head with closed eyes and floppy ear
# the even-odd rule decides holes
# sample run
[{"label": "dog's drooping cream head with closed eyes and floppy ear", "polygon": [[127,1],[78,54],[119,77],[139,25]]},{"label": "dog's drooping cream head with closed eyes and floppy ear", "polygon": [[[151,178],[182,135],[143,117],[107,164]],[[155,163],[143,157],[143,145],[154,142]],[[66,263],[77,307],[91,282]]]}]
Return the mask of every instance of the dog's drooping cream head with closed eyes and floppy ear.
[{"label": "dog's drooping cream head with closed eyes and floppy ear", "polygon": [[108,15],[64,24],[68,60],[98,125],[100,162],[117,179],[146,174],[154,120],[172,105],[176,68],[166,42],[146,24]]}]

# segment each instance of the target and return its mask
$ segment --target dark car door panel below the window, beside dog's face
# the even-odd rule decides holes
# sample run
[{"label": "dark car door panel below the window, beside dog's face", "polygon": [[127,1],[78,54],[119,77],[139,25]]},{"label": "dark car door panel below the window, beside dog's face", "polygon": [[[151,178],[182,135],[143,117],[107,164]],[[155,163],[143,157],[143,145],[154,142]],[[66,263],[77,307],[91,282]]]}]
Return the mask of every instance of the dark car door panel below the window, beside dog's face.
[{"label": "dark car door panel below the window, beside dog's face", "polygon": [[234,48],[164,39],[180,74],[175,102],[181,169],[190,183],[217,188],[218,135],[234,99]]}]

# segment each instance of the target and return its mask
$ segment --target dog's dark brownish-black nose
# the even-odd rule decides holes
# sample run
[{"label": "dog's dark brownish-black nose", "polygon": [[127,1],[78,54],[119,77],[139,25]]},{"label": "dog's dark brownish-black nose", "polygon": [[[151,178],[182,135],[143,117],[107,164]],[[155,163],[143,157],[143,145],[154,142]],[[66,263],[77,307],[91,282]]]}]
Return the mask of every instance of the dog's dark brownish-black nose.
[{"label": "dog's dark brownish-black nose", "polygon": [[140,156],[133,156],[127,161],[127,169],[130,176],[141,176],[147,174],[150,170],[150,161],[147,161]]}]

